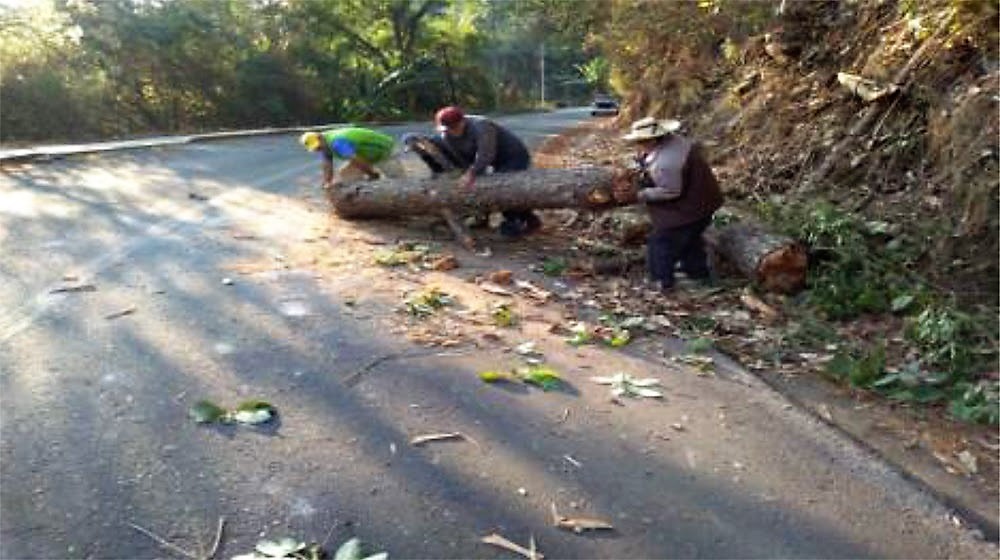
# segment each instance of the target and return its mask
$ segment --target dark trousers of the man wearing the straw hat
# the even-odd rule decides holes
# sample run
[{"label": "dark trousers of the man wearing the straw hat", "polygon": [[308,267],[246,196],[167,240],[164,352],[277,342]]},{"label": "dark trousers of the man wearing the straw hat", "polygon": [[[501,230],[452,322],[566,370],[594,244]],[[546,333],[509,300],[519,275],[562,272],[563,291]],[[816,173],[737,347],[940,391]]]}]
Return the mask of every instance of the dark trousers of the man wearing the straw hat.
[{"label": "dark trousers of the man wearing the straw hat", "polygon": [[708,278],[708,255],[701,234],[710,223],[711,216],[680,227],[654,229],[646,238],[650,277],[664,287],[673,286],[674,269],[680,263],[689,278]]}]

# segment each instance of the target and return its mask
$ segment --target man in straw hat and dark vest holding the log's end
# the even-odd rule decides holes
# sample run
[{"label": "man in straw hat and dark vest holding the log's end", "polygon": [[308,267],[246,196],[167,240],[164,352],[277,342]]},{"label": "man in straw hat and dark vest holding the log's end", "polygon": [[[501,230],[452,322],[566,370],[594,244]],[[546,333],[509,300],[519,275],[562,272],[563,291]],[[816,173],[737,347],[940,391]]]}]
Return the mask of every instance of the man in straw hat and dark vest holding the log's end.
[{"label": "man in straw hat and dark vest holding the log's end", "polygon": [[646,205],[653,231],[646,244],[650,277],[664,292],[674,287],[677,264],[688,278],[708,281],[710,271],[702,234],[712,214],[722,206],[722,191],[692,140],[676,132],[675,120],[651,117],[632,124],[623,139],[638,148],[642,169],[639,185],[624,185],[615,191],[619,202]]}]

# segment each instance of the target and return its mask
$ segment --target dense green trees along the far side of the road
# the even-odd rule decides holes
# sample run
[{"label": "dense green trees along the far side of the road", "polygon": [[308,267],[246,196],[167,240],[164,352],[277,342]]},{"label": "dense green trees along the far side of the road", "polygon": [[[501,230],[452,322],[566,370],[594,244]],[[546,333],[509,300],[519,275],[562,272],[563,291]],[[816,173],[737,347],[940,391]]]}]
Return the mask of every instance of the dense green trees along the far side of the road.
[{"label": "dense green trees along the far side of the road", "polygon": [[[0,7],[0,137],[428,118],[581,102],[585,25],[542,17],[576,2],[38,0]],[[587,4],[583,4],[587,5]],[[596,6],[596,4],[595,4]],[[574,18],[582,21],[581,18]],[[592,50],[592,49],[591,49]]]}]

